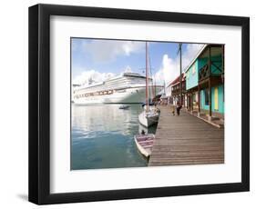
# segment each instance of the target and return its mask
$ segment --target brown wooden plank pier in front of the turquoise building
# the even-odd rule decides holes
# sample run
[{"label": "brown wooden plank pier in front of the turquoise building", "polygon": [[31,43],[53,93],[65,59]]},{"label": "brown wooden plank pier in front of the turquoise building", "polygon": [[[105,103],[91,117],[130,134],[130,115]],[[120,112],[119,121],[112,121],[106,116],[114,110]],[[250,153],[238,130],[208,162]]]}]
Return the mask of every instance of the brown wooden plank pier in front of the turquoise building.
[{"label": "brown wooden plank pier in front of the turquoise building", "polygon": [[159,106],[159,109],[161,114],[148,166],[224,163],[223,128],[185,111],[173,116],[170,106]]}]

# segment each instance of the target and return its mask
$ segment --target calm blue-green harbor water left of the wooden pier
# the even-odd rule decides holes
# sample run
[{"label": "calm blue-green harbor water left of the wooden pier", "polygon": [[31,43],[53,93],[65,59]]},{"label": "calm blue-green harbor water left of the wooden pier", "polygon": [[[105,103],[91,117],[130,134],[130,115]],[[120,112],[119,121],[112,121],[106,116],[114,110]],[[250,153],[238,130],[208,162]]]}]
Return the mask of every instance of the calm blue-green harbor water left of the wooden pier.
[{"label": "calm blue-green harbor water left of the wooden pier", "polygon": [[[134,142],[141,104],[72,104],[71,170],[148,166]],[[145,130],[155,134],[156,126]]]}]

